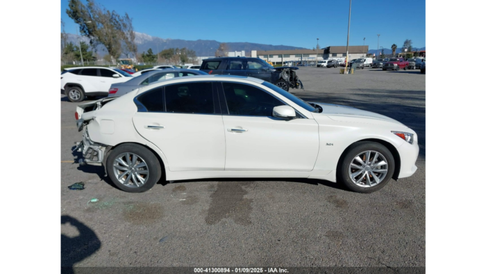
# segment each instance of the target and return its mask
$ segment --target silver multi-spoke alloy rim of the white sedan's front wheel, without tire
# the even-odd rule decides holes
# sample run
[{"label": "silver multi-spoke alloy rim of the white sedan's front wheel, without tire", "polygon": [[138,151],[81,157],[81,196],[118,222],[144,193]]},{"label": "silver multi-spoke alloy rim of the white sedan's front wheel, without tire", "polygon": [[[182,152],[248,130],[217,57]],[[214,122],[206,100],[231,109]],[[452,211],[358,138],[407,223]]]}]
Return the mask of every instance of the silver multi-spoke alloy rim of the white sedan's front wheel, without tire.
[{"label": "silver multi-spoke alloy rim of the white sedan's front wheel, without tire", "polygon": [[367,151],[355,156],[349,165],[349,177],[356,186],[378,186],[387,177],[388,161],[380,152]]}]

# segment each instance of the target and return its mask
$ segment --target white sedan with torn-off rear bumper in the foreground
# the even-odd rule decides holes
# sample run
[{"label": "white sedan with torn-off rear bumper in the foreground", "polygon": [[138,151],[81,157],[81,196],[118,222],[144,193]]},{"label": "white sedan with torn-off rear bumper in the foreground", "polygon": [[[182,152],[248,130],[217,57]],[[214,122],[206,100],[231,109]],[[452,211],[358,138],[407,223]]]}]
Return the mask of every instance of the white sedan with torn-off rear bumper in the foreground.
[{"label": "white sedan with torn-off rear bumper in the foreground", "polygon": [[383,115],[308,104],[260,79],[190,76],[76,110],[82,165],[123,191],[160,179],[309,178],[372,193],[417,171],[417,134]]}]

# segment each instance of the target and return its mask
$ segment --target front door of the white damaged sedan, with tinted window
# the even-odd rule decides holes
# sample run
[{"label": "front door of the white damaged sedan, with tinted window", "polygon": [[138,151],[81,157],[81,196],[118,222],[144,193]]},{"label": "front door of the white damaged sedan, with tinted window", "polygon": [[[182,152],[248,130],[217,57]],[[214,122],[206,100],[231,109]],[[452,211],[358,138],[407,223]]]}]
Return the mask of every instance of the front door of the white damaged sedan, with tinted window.
[{"label": "front door of the white damaged sedan, with tinted window", "polygon": [[314,169],[319,153],[319,125],[299,115],[296,120],[272,117],[284,106],[270,92],[242,83],[218,85],[224,98],[227,171],[297,171]]}]

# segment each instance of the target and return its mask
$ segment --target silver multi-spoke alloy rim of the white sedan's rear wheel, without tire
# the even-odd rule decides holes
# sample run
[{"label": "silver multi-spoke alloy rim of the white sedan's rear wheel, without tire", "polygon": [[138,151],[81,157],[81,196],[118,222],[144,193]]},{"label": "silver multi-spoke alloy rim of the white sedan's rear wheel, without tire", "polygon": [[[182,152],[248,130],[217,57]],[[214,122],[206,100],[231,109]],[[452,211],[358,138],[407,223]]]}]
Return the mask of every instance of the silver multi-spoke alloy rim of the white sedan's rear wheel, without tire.
[{"label": "silver multi-spoke alloy rim of the white sedan's rear wheel, without tire", "polygon": [[128,188],[140,188],[149,179],[149,166],[142,157],[133,153],[124,153],[116,157],[113,172],[118,182]]}]

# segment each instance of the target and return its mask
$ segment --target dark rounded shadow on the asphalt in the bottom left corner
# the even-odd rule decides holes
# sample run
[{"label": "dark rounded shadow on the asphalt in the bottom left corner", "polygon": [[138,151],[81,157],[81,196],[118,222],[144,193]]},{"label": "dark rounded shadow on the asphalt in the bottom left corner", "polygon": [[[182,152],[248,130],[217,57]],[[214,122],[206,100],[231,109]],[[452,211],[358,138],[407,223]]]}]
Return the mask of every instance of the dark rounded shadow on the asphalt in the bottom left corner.
[{"label": "dark rounded shadow on the asphalt in the bottom left corner", "polygon": [[60,273],[74,273],[73,266],[94,255],[101,248],[101,241],[90,227],[71,216],[60,216],[60,225],[75,227],[78,236],[60,234]]}]

